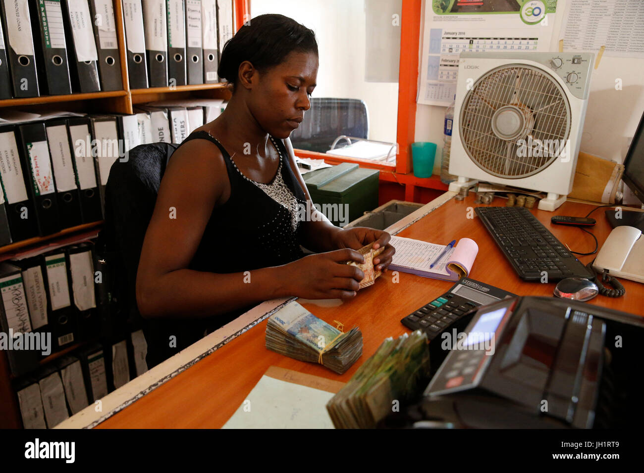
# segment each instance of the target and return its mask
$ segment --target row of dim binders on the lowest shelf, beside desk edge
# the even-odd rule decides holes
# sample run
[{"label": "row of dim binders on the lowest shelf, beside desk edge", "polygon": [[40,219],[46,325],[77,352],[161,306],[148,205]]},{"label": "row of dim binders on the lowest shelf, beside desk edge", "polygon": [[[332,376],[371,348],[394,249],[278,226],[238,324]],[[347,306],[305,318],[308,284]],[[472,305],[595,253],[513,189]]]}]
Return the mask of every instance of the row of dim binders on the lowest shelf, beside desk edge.
[{"label": "row of dim binders on the lowest shelf, beside desk edge", "polygon": [[106,344],[93,343],[14,380],[25,429],[52,429],[147,371],[141,330]]}]

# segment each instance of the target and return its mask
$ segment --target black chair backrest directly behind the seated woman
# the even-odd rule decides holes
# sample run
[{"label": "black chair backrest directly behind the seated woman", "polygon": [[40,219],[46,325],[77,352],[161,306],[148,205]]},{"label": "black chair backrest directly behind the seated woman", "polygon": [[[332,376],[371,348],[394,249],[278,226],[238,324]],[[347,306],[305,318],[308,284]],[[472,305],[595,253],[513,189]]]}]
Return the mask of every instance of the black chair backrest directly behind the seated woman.
[{"label": "black chair backrest directly behind the seated woman", "polygon": [[147,225],[155,209],[161,178],[178,144],[138,145],[128,159],[117,160],[109,171],[105,190],[104,242],[111,261],[120,310],[128,312],[132,322],[140,322],[136,283]]}]

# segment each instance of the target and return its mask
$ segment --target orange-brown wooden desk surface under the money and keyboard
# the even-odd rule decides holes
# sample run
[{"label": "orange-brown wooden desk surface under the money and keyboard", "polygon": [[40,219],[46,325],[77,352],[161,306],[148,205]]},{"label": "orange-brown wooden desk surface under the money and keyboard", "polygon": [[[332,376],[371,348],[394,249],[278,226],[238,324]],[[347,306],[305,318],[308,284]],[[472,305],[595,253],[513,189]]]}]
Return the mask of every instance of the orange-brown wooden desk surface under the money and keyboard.
[{"label": "orange-brown wooden desk surface under the money and keyboard", "polygon": [[[519,295],[552,295],[554,283],[521,281],[476,214],[473,219],[467,218],[468,207],[476,207],[473,201],[473,194],[464,201],[451,199],[398,235],[443,244],[452,239],[469,237],[478,243],[478,256],[469,277]],[[504,199],[496,198],[491,205],[504,203]],[[533,214],[572,250],[589,252],[594,248],[591,236],[578,228],[551,225],[550,218],[553,215],[583,217],[592,208],[592,205],[566,202],[556,212],[533,209]],[[591,215],[598,222],[591,231],[600,245],[611,231],[603,210],[598,209]],[[585,264],[593,257],[580,257],[580,261]],[[621,282],[626,288],[623,297],[612,299],[597,296],[589,304],[641,315],[644,302],[642,285],[623,279]],[[100,423],[97,428],[222,427],[271,365],[346,382],[386,337],[398,337],[406,331],[400,319],[446,292],[452,285],[449,281],[405,273],[399,273],[399,283],[393,283],[392,272],[388,271],[350,302],[336,307],[304,303],[308,310],[331,324],[333,320],[339,320],[345,324],[345,329],[356,325],[360,327],[364,340],[363,355],[344,375],[336,375],[320,365],[300,362],[267,350],[264,342],[267,321],[264,320]]]}]

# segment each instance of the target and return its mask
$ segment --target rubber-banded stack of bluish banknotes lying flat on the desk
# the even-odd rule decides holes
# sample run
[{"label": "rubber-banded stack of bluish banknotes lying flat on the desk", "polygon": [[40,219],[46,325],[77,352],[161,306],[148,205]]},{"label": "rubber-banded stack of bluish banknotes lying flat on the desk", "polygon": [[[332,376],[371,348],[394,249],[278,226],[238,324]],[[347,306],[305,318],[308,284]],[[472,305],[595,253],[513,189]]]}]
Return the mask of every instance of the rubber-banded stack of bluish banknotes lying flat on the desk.
[{"label": "rubber-banded stack of bluish banknotes lying flat on the desk", "polygon": [[297,302],[290,302],[271,315],[266,326],[269,350],[322,364],[340,374],[360,358],[362,346],[362,332],[357,327],[343,333]]}]

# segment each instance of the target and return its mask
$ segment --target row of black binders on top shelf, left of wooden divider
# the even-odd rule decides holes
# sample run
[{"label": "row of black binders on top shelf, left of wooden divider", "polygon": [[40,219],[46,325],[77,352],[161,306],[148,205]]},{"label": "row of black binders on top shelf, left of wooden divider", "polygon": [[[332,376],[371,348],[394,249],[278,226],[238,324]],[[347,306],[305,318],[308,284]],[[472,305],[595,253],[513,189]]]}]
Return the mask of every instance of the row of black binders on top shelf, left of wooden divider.
[{"label": "row of black binders on top shelf, left of wooden divider", "polygon": [[0,0],[0,99],[122,90],[112,0]]}]

